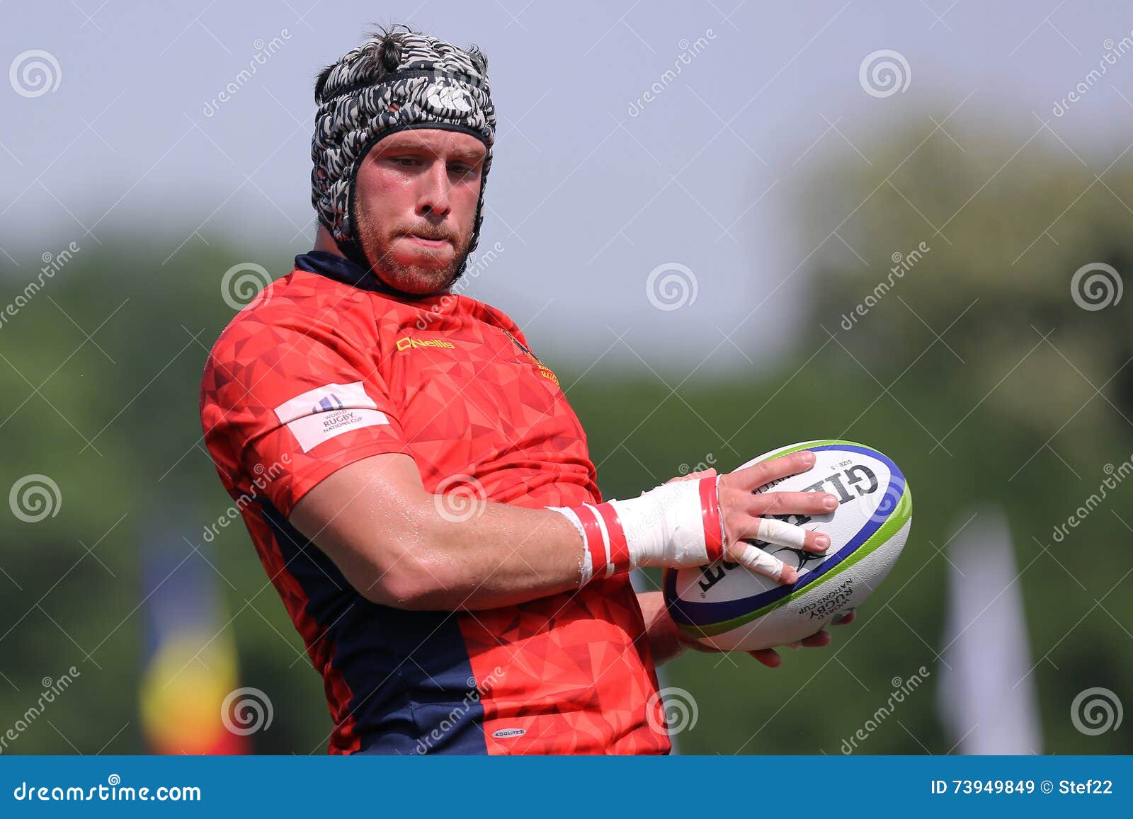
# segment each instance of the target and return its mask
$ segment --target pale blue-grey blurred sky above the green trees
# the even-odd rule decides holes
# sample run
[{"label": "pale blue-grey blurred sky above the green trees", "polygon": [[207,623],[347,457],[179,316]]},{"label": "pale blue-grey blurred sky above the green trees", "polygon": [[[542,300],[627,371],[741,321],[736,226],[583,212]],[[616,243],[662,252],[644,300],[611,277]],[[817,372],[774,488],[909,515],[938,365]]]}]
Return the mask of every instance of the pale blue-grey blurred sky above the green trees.
[{"label": "pale blue-grey blurred sky above the green trees", "polygon": [[[607,364],[658,369],[770,360],[801,319],[813,251],[888,266],[894,248],[851,249],[834,233],[809,247],[793,222],[820,169],[864,167],[896,122],[928,136],[960,105],[949,122],[979,119],[1022,145],[1038,114],[1097,157],[1094,171],[1133,130],[1133,54],[1051,112],[1107,40],[1133,37],[1124,2],[8,0],[0,15],[0,267],[16,281],[43,251],[134,231],[156,283],[168,259],[214,236],[250,257],[233,264],[282,275],[314,237],[317,70],[370,23],[476,43],[501,117],[480,245],[503,251],[465,292],[510,313],[540,355],[583,366],[606,350]],[[859,68],[880,49],[908,61],[905,91],[863,89]],[[22,85],[31,50],[58,63],[48,93]],[[228,102],[211,102],[253,66]],[[663,91],[641,106],[655,82]],[[1036,139],[1058,147],[1050,131]],[[665,263],[691,271],[695,301],[650,304],[647,279]]]}]

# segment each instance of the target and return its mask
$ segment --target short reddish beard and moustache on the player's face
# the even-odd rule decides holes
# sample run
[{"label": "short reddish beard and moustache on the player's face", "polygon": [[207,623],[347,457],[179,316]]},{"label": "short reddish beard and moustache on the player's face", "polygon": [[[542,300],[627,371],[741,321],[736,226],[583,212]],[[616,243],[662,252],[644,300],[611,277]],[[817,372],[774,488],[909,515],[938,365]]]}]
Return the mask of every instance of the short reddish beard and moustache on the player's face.
[{"label": "short reddish beard and moustache on the player's face", "polygon": [[442,259],[448,255],[448,248],[423,248],[414,254],[419,261],[407,262],[394,247],[395,244],[406,241],[404,232],[386,233],[368,222],[365,214],[360,215],[358,232],[363,253],[374,274],[390,287],[414,296],[431,296],[452,287],[463,274],[471,234],[459,237],[425,225],[414,228],[428,238],[448,240],[453,253],[452,258],[445,263]]}]

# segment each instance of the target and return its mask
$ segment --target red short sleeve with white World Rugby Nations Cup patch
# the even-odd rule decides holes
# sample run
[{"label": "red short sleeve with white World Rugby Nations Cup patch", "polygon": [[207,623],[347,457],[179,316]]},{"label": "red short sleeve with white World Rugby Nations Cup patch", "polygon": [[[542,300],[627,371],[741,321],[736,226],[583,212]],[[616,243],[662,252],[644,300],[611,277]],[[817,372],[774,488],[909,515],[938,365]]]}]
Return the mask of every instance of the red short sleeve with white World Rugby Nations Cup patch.
[{"label": "red short sleeve with white World Rugby Nations Cup patch", "polygon": [[342,467],[408,453],[375,341],[301,318],[229,325],[205,366],[201,420],[230,492],[266,496],[289,515]]}]

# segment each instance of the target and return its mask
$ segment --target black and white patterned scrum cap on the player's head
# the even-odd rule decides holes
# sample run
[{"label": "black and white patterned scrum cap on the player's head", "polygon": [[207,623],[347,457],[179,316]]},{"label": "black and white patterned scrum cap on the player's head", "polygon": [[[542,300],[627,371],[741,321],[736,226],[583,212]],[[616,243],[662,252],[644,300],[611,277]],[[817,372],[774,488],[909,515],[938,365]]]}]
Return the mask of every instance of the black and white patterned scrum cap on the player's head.
[{"label": "black and white patterned scrum cap on the player's head", "polygon": [[410,128],[465,131],[487,148],[469,253],[476,249],[496,128],[487,61],[478,49],[409,32],[376,35],[334,63],[315,88],[315,102],[310,199],[348,258],[368,264],[355,223],[358,167],[380,139]]}]

